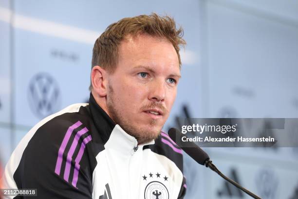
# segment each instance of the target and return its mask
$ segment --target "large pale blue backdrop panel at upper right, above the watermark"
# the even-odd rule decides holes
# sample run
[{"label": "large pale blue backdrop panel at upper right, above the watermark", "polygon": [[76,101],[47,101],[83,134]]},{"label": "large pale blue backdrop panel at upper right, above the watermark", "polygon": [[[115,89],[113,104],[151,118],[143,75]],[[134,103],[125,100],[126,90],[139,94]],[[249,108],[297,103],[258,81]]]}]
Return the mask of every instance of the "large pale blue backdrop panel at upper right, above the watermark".
[{"label": "large pale blue backdrop panel at upper right, above the watermark", "polygon": [[297,117],[298,27],[214,3],[207,12],[211,117],[225,106],[242,118]]}]

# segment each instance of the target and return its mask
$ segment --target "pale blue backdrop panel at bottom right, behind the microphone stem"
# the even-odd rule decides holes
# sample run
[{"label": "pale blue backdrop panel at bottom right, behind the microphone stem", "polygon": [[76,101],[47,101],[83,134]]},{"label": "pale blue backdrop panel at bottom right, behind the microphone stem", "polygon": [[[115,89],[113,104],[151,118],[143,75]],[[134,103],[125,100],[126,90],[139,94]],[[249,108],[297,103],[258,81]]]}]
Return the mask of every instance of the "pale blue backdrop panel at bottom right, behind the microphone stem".
[{"label": "pale blue backdrop panel at bottom right, behind the microphone stem", "polygon": [[[295,186],[297,185],[298,171],[289,169],[286,166],[278,167],[274,164],[254,162],[239,162],[233,164],[228,160],[218,160],[221,164],[222,172],[229,178],[238,180],[244,187],[253,191],[258,196],[270,199],[290,198],[294,194]],[[210,171],[211,172],[211,171]],[[234,196],[239,196],[238,190],[232,186],[226,186],[223,179],[218,179],[217,174],[210,175],[210,189],[208,190],[207,198],[231,198],[227,192],[230,188]],[[227,188],[228,187],[228,188]],[[289,191],[285,191],[289,190]],[[243,195],[243,198],[249,199],[249,196]]]}]

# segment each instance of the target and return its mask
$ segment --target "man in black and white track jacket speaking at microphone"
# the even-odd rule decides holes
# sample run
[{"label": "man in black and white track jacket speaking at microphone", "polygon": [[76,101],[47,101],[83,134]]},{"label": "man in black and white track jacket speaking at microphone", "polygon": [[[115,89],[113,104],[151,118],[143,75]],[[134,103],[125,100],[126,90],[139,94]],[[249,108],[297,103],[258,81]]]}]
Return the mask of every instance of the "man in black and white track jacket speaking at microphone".
[{"label": "man in black and white track jacket speaking at microphone", "polygon": [[94,44],[89,104],[37,123],[6,165],[5,187],[35,188],[42,199],[183,198],[182,151],[161,132],[181,37],[156,14],[111,24]]}]

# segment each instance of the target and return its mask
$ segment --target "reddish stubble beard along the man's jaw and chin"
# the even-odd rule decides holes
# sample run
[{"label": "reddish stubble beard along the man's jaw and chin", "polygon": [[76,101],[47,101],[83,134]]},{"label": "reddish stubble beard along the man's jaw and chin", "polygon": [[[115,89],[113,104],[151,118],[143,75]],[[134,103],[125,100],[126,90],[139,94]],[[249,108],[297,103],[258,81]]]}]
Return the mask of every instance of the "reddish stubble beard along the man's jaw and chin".
[{"label": "reddish stubble beard along the man's jaw and chin", "polygon": [[130,121],[121,114],[121,111],[116,109],[115,104],[117,102],[115,101],[111,85],[109,85],[109,96],[110,99],[107,99],[107,108],[110,113],[110,117],[116,124],[119,124],[127,134],[137,139],[138,144],[147,143],[152,139],[156,139],[160,135],[162,128],[155,130],[157,123],[156,119],[150,120],[149,129],[131,125]]}]

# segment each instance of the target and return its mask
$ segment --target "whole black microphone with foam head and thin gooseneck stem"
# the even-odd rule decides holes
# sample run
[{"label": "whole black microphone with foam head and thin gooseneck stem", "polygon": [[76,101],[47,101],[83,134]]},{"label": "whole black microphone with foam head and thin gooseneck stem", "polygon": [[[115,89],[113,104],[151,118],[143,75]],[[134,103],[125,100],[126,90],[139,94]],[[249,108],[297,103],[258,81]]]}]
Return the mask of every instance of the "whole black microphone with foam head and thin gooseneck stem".
[{"label": "whole black microphone with foam head and thin gooseneck stem", "polygon": [[257,195],[251,193],[250,191],[248,191],[247,189],[245,189],[244,187],[240,186],[237,182],[235,182],[232,179],[229,179],[228,177],[224,176],[222,174],[222,172],[220,172],[220,170],[218,170],[216,168],[216,166],[212,163],[212,161],[210,160],[208,154],[201,149],[198,145],[196,145],[194,142],[192,141],[187,141],[184,142],[182,141],[182,137],[186,137],[185,135],[183,135],[178,129],[176,128],[170,128],[168,130],[168,136],[176,142],[176,144],[183,150],[186,152],[186,154],[188,154],[188,156],[190,156],[192,159],[194,159],[196,162],[198,162],[199,164],[205,165],[206,167],[209,167],[212,171],[215,171],[218,175],[220,175],[223,179],[227,180],[228,182],[232,183],[234,186],[236,186],[237,188],[241,189],[242,191],[244,191],[246,194],[248,194],[249,196],[253,197],[254,199],[261,199],[260,197],[258,197]]}]

